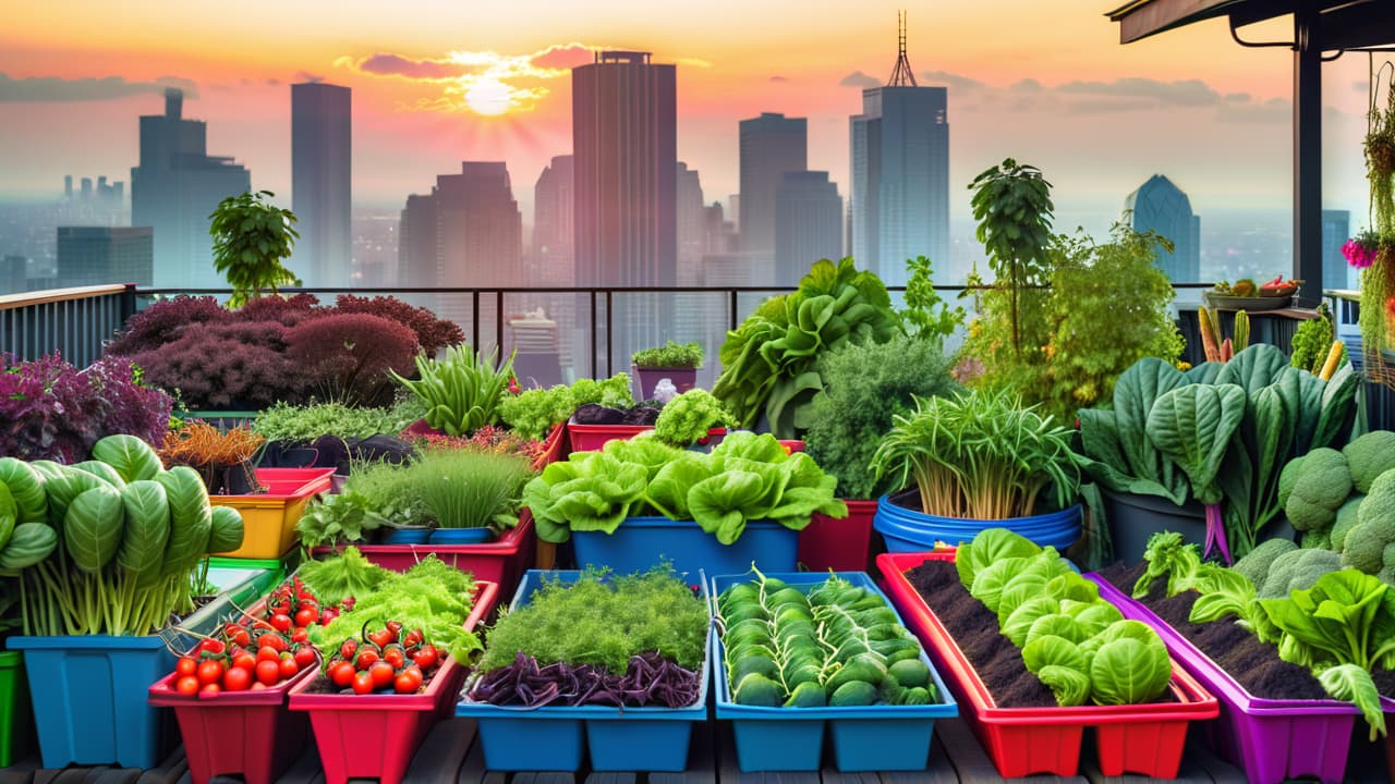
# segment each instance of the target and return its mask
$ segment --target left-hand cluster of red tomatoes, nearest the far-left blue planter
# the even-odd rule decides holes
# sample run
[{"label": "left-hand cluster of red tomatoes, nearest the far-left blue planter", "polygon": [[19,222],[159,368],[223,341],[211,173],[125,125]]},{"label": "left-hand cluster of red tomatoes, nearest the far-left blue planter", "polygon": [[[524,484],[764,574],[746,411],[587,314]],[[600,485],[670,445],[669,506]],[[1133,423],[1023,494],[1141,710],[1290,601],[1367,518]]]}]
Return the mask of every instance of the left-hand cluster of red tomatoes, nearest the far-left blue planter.
[{"label": "left-hand cluster of red tomatoes, nearest the far-left blue planter", "polygon": [[319,658],[310,643],[296,643],[272,628],[223,626],[222,639],[205,639],[174,665],[174,691],[246,692],[279,686]]}]

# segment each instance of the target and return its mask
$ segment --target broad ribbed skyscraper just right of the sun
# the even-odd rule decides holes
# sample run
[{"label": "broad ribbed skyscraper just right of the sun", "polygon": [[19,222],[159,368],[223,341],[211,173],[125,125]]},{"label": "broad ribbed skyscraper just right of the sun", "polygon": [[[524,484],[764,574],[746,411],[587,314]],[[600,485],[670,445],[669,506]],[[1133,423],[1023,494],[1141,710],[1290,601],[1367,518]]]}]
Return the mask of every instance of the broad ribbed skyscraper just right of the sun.
[{"label": "broad ribbed skyscraper just right of the sun", "polygon": [[[576,282],[677,283],[677,68],[647,52],[597,52],[572,70]],[[617,297],[610,368],[671,336],[663,296]]]}]

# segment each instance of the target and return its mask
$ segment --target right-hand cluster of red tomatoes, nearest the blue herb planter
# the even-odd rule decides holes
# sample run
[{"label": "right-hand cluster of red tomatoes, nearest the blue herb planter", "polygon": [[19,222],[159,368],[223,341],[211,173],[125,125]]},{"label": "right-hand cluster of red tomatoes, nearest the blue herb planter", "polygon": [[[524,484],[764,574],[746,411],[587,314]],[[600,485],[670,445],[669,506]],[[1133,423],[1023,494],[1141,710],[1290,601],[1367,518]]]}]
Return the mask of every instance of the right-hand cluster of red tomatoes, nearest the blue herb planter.
[{"label": "right-hand cluster of red tomatoes, nearest the blue herb planter", "polygon": [[356,695],[393,692],[413,695],[431,679],[441,664],[441,654],[428,643],[421,629],[402,633],[402,624],[360,638],[349,638],[325,664],[325,675],[340,689]]}]

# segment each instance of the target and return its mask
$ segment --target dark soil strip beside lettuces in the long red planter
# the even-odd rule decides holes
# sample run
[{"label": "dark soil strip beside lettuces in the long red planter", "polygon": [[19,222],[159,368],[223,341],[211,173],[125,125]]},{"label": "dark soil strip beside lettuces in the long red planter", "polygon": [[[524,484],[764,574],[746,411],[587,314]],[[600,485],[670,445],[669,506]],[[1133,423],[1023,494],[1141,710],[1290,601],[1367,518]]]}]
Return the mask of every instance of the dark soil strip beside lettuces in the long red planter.
[{"label": "dark soil strip beside lettuces in the long red planter", "polygon": [[926,561],[905,573],[983,679],[1000,707],[1055,707],[1056,698],[1027,671],[1023,654],[997,633],[997,615],[970,596],[949,561]]}]

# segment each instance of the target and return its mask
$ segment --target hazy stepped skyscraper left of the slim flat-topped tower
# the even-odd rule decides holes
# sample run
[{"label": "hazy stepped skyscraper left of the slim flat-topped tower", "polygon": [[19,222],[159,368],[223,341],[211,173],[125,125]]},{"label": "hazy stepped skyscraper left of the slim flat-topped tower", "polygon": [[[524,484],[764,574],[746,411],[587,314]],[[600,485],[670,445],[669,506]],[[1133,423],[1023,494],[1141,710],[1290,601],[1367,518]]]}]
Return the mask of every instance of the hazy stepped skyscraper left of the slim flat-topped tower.
[{"label": "hazy stepped skyscraper left of the slim flat-topped tower", "polygon": [[141,117],[141,165],[131,169],[131,225],[155,230],[155,285],[213,287],[209,213],[251,190],[251,173],[208,155],[208,126],[183,119],[184,92],[165,91],[165,113]]}]

